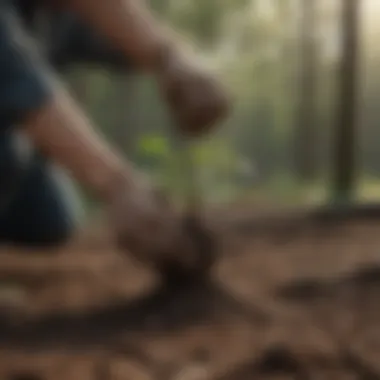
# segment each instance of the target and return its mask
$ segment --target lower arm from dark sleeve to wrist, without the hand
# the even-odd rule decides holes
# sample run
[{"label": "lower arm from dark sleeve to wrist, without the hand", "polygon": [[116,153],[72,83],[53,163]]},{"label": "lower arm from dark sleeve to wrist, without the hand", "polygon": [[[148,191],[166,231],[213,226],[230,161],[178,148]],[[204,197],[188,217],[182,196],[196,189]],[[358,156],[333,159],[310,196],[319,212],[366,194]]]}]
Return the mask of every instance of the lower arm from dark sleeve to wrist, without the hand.
[{"label": "lower arm from dark sleeve to wrist, without the hand", "polygon": [[[107,201],[132,168],[108,147],[0,2],[0,132],[20,126],[53,161]],[[125,178],[127,178],[127,181]]]}]

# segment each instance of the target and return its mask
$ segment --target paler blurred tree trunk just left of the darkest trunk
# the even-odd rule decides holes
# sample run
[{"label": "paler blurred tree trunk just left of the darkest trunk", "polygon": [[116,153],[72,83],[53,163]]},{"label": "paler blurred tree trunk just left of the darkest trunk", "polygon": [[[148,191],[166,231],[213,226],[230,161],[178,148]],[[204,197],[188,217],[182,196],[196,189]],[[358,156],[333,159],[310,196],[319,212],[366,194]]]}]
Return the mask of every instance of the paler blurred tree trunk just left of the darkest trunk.
[{"label": "paler blurred tree trunk just left of the darkest trunk", "polygon": [[294,136],[295,174],[302,181],[315,179],[317,171],[316,126],[316,1],[300,0],[299,99]]}]

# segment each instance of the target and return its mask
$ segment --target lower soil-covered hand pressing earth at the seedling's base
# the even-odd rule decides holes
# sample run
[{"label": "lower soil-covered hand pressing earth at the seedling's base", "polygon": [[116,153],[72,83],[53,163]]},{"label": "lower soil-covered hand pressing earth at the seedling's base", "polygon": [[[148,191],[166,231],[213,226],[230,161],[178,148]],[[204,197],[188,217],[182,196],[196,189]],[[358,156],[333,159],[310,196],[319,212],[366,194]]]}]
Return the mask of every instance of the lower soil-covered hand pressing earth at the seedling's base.
[{"label": "lower soil-covered hand pressing earth at the seedling's base", "polygon": [[172,256],[178,254],[179,216],[145,178],[136,176],[119,184],[109,202],[108,216],[118,246],[139,261],[159,267],[167,260],[186,259]]}]

